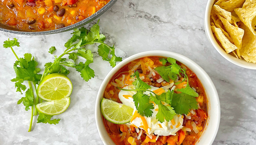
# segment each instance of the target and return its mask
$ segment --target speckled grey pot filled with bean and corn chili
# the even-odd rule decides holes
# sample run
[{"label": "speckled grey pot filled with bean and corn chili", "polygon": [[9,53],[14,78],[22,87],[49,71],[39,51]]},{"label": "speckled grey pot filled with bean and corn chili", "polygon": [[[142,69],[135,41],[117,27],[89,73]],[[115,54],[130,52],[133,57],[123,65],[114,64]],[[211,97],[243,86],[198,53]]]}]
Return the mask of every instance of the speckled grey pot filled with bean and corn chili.
[{"label": "speckled grey pot filled with bean and corn chili", "polygon": [[81,27],[117,0],[8,0],[0,4],[0,31],[22,35],[56,34]]}]

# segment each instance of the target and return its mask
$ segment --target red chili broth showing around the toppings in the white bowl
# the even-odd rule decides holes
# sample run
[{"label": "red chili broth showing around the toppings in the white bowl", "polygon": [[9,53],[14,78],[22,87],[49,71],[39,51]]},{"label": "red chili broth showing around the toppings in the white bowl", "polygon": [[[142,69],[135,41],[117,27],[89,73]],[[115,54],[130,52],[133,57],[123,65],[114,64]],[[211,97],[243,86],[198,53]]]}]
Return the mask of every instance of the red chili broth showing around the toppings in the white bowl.
[{"label": "red chili broth showing around the toppings in the white bowl", "polygon": [[[155,87],[162,87],[162,86],[168,85],[169,84],[168,82],[158,83],[156,81],[157,79],[159,79],[161,77],[159,74],[156,74],[155,76],[152,75],[152,77],[150,77],[150,78],[146,77],[146,75],[148,75],[150,73],[148,66],[151,68],[163,66],[162,62],[159,61],[160,58],[163,58],[163,57],[160,57],[160,56],[143,57],[143,58],[134,60],[134,61],[124,65],[111,78],[110,82],[108,83],[108,85],[105,89],[103,97],[106,99],[111,99],[113,101],[122,103],[118,98],[118,93],[120,92],[120,90],[116,86],[114,86],[117,84],[117,82],[115,80],[118,79],[120,81],[123,81],[125,84],[123,87],[130,85],[131,84],[130,75],[131,75],[131,73],[133,73],[136,70],[138,70],[140,72],[140,76],[145,76],[145,79],[143,79],[143,81],[149,85],[152,85]],[[134,71],[132,71],[132,69],[138,62],[141,62],[140,66],[138,68],[136,68]],[[167,144],[167,143],[169,143],[170,145],[176,145],[176,144],[181,144],[181,143],[182,143],[182,145],[194,145],[196,143],[196,141],[199,139],[202,131],[204,130],[205,122],[206,122],[206,119],[208,116],[207,115],[206,93],[204,91],[204,87],[203,87],[202,83],[197,78],[196,74],[193,73],[184,64],[182,64],[178,61],[177,61],[177,64],[179,64],[182,68],[186,68],[186,74],[189,79],[189,85],[191,88],[194,87],[196,89],[196,92],[199,94],[199,97],[196,98],[196,101],[198,102],[200,109],[194,110],[194,112],[195,112],[194,115],[192,115],[191,113],[188,114],[191,116],[191,119],[188,119],[185,117],[185,115],[183,115],[185,117],[185,119],[183,118],[184,119],[183,120],[183,128],[185,128],[185,127],[190,128],[191,131],[183,131],[185,133],[184,134],[185,138],[183,138],[182,142],[180,141],[181,140],[180,138],[182,136],[182,134],[180,134],[180,133],[182,133],[182,129],[180,129],[178,132],[176,132],[176,136],[173,136],[173,135],[159,136],[158,139],[156,140],[156,142],[143,143],[143,141],[146,139],[145,131],[143,131],[143,133],[141,135],[141,139],[137,140],[136,136],[138,136],[138,133],[136,132],[136,130],[133,126],[130,126],[130,128],[129,128],[125,124],[113,124],[113,123],[107,121],[102,116],[105,128],[106,128],[109,136],[115,142],[116,145],[130,145],[130,143],[127,141],[127,139],[130,136],[133,136],[135,138],[134,143],[136,143],[136,145],[140,145],[140,144],[163,145],[163,144]],[[167,63],[166,65],[169,65],[169,64]],[[124,75],[124,77],[123,77],[123,75]],[[179,80],[183,79],[182,77],[184,78],[184,74],[183,74],[183,76],[181,75],[181,77],[179,77]],[[153,79],[153,81],[151,81],[150,79],[151,80]],[[180,86],[176,85],[176,88],[177,87],[180,87]],[[199,130],[198,133],[195,133],[195,131],[193,131],[191,122],[196,123],[197,129]]]}]

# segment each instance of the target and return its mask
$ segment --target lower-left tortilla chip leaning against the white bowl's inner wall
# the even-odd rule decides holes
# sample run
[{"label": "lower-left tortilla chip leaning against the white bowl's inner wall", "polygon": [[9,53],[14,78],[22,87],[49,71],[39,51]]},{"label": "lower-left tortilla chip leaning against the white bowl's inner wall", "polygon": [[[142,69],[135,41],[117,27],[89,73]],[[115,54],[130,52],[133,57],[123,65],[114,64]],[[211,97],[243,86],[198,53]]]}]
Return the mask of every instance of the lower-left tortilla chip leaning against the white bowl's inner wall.
[{"label": "lower-left tortilla chip leaning against the white bowl's inner wall", "polygon": [[230,53],[237,49],[237,46],[232,44],[219,28],[216,28],[215,26],[211,26],[211,28],[212,32],[215,34],[216,38],[219,40],[222,47],[227,53]]}]

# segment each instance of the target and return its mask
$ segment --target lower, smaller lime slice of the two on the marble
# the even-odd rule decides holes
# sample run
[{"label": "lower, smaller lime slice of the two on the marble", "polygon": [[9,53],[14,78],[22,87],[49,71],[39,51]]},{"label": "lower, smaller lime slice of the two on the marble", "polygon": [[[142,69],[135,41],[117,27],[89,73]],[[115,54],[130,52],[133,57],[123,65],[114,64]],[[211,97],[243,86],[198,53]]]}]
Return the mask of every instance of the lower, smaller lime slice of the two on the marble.
[{"label": "lower, smaller lime slice of the two on the marble", "polygon": [[67,110],[69,104],[70,97],[39,103],[36,109],[46,115],[57,115]]}]

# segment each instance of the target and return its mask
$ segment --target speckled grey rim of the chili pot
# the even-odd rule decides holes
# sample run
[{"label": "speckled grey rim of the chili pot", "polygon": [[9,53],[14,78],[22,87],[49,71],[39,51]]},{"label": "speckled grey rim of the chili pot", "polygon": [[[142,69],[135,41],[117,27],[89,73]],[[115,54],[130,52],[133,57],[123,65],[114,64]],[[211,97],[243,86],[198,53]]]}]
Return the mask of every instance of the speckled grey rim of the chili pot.
[{"label": "speckled grey rim of the chili pot", "polygon": [[76,24],[73,24],[73,25],[70,25],[70,26],[67,26],[64,28],[50,30],[50,31],[42,31],[42,32],[18,31],[18,29],[17,29],[17,31],[15,31],[15,30],[8,30],[8,29],[0,28],[0,31],[4,31],[7,33],[13,33],[13,34],[20,34],[20,35],[46,35],[46,34],[56,34],[56,33],[66,32],[66,31],[81,27],[81,26],[88,24],[91,21],[95,20],[101,14],[105,13],[116,1],[117,0],[111,0],[107,5],[103,6],[99,11],[97,11],[93,15],[89,16],[88,18],[86,18],[80,22],[77,22]]}]

